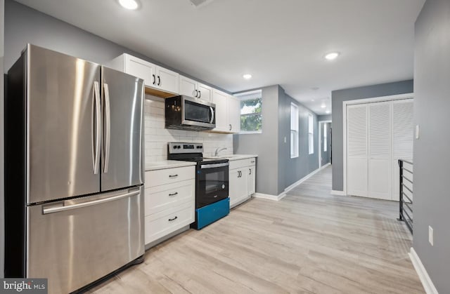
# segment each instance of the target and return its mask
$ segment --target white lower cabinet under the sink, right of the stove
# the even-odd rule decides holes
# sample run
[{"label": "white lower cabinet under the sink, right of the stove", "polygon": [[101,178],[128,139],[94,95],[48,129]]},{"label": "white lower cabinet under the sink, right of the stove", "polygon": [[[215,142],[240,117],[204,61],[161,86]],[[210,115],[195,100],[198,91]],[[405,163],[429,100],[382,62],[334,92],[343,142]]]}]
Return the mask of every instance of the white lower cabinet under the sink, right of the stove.
[{"label": "white lower cabinet under the sink, right of the stove", "polygon": [[229,198],[230,208],[250,199],[255,194],[256,160],[239,159],[230,161]]}]

